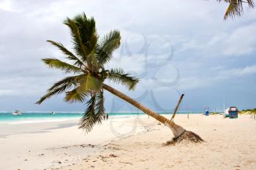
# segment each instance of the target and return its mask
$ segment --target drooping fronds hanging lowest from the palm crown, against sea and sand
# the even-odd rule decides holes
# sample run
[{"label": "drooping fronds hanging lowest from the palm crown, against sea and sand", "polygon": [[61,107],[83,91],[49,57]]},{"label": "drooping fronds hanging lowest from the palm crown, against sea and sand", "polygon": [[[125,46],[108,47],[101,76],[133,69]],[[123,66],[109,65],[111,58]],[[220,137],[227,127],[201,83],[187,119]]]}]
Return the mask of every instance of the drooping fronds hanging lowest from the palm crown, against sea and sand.
[{"label": "drooping fronds hanging lowest from the palm crown, against sea and sand", "polygon": [[79,128],[91,131],[96,123],[102,123],[102,117],[105,115],[103,91],[91,96],[86,103],[86,112],[80,120]]}]

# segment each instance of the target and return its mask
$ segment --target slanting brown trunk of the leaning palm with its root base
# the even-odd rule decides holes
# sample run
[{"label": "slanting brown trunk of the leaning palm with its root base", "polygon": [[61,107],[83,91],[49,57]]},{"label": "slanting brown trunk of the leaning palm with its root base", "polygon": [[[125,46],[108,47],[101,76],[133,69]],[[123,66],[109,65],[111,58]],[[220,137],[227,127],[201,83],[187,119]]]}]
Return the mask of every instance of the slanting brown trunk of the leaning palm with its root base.
[{"label": "slanting brown trunk of the leaning palm with its root base", "polygon": [[120,91],[116,90],[115,88],[110,87],[109,85],[103,84],[103,88],[105,90],[108,90],[110,93],[113,93],[114,95],[118,96],[119,98],[122,98],[124,101],[127,101],[129,104],[132,104],[133,106],[137,107],[147,115],[154,117],[159,122],[163,123],[164,125],[167,125],[170,130],[173,132],[173,140],[172,142],[169,142],[170,144],[174,144],[177,142],[181,142],[183,139],[187,139],[192,142],[202,142],[203,139],[200,138],[197,134],[186,131],[184,128],[182,128],[180,125],[177,125],[171,120],[168,120],[167,118],[163,117],[162,115],[159,115],[156,112],[153,112],[151,109],[148,109],[147,107],[144,107],[141,105],[138,101],[135,101],[134,99],[130,98],[129,96],[125,95],[124,93],[121,93]]}]

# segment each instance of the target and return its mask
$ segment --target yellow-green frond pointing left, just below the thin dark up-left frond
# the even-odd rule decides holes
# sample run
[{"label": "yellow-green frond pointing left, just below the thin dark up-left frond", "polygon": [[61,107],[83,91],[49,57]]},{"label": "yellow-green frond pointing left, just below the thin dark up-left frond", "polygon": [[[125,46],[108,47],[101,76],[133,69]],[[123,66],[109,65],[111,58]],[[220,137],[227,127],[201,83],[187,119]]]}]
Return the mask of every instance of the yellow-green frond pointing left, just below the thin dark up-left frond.
[{"label": "yellow-green frond pointing left, just below the thin dark up-left frond", "polygon": [[69,72],[73,72],[73,73],[83,72],[83,69],[80,69],[77,66],[73,66],[69,63],[65,63],[63,61],[60,61],[56,58],[44,58],[44,59],[42,59],[42,61],[44,63],[46,63],[50,68],[61,69],[61,70],[64,70],[66,73],[69,73]]}]

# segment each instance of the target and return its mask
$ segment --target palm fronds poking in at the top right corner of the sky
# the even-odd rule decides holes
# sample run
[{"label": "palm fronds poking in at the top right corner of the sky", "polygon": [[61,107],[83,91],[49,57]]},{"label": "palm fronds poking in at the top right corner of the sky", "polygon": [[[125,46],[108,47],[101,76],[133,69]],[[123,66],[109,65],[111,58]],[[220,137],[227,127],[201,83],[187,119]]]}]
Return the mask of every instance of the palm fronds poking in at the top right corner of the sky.
[{"label": "palm fronds poking in at the top right corner of the sky", "polygon": [[253,0],[217,0],[217,1],[225,1],[229,3],[224,19],[226,20],[228,17],[235,17],[235,16],[240,16],[241,13],[243,12],[243,4],[248,4],[249,7],[255,7],[255,4]]}]

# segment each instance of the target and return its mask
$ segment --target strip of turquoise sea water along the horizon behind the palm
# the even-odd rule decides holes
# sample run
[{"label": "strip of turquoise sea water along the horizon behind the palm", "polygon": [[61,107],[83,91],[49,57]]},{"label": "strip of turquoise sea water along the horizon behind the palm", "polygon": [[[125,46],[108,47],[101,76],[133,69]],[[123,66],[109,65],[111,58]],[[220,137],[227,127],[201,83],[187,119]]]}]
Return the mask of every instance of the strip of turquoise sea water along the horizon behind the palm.
[{"label": "strip of turquoise sea water along the horizon behind the palm", "polygon": [[[20,123],[42,123],[55,122],[64,120],[79,119],[83,116],[83,112],[23,112],[23,115],[12,115],[12,112],[0,112],[0,123],[20,124]],[[171,114],[167,112],[159,112],[163,115]],[[179,112],[178,114],[187,114],[187,112]],[[198,114],[198,112],[189,112],[189,114]],[[111,112],[110,117],[130,117],[134,115],[145,115],[143,112]]]}]

